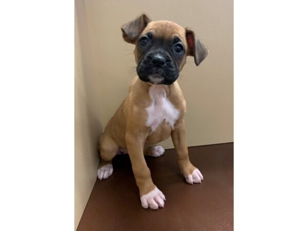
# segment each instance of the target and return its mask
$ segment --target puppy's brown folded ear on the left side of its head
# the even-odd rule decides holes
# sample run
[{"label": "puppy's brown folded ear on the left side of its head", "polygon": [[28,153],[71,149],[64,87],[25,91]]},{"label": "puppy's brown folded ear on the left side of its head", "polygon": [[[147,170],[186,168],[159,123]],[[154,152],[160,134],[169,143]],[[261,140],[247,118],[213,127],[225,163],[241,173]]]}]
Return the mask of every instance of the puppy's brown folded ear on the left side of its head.
[{"label": "puppy's brown folded ear on the left side of its head", "polygon": [[134,43],[149,22],[151,22],[150,18],[143,13],[135,20],[124,24],[121,27],[123,39],[127,43]]}]

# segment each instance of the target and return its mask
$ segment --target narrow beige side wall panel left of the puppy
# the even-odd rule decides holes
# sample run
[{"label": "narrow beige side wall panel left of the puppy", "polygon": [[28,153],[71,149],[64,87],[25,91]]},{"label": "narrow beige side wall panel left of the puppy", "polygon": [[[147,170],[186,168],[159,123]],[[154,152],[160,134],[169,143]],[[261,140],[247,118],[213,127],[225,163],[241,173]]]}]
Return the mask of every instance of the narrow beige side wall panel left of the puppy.
[{"label": "narrow beige side wall panel left of the puppy", "polygon": [[94,75],[86,52],[87,33],[84,23],[77,20],[80,17],[82,12],[75,14],[75,229],[96,179],[97,143],[103,130],[97,112],[101,105],[93,91]]}]

